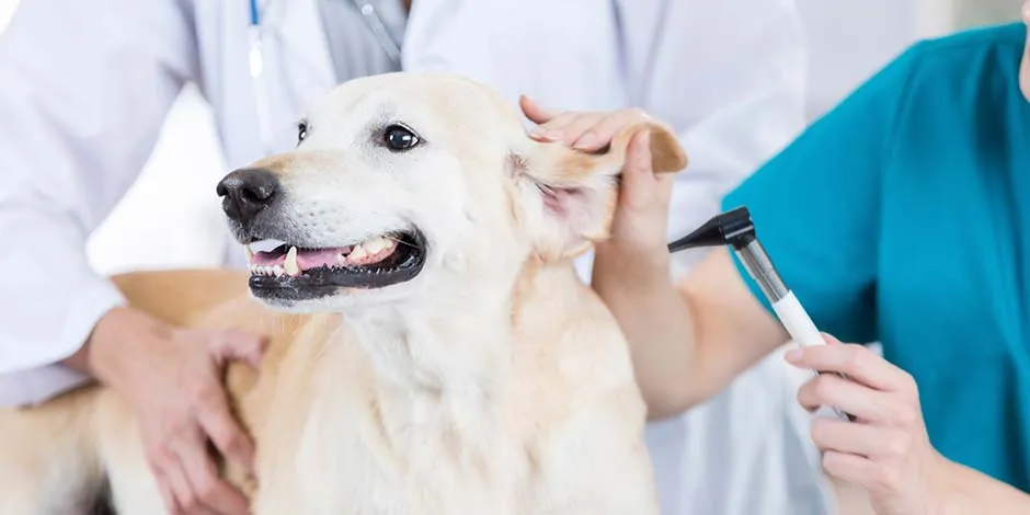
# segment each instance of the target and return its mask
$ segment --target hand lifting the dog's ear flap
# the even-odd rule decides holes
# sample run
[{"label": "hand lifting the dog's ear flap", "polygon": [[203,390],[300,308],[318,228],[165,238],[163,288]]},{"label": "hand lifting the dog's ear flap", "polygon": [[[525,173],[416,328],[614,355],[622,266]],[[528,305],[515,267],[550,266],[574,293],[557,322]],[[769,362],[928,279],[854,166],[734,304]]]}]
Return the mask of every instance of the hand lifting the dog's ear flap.
[{"label": "hand lifting the dog's ear flap", "polygon": [[[530,137],[561,141],[586,152],[607,147],[625,129],[650,119],[638,108],[575,113],[547,110],[525,96],[519,103],[526,117],[537,124]],[[672,188],[673,174],[652,170],[650,133],[639,131],[627,150],[610,239],[596,245],[595,278],[632,273],[633,277],[628,277],[631,284],[648,284],[650,279],[668,282],[665,240]],[[630,263],[632,266],[625,266]],[[619,272],[607,274],[606,270]]]}]

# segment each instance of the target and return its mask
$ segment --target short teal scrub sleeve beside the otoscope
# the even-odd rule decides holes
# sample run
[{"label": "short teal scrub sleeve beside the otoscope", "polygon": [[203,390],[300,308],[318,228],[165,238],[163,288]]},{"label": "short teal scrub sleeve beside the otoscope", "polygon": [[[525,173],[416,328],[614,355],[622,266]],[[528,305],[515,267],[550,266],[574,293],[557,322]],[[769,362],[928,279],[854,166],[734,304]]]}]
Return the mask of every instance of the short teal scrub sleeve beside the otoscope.
[{"label": "short teal scrub sleeve beside the otoscope", "polygon": [[723,199],[726,210],[748,208],[787,286],[820,330],[842,341],[878,339],[881,176],[917,49],[873,76]]}]

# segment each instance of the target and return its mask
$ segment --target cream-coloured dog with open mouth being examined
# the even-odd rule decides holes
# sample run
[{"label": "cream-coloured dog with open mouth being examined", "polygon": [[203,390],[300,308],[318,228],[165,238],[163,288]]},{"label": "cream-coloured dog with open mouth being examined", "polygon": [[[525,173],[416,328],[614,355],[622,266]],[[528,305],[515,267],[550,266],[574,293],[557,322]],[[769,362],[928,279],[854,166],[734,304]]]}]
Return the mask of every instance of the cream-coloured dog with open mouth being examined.
[{"label": "cream-coloured dog with open mouth being examined", "polygon": [[[671,129],[579,152],[440,73],[345,82],[298,125],[218,184],[250,271],[114,277],[169,323],[268,335],[260,370],[227,376],[258,450],[255,478],[224,473],[253,513],[657,514],[627,342],[572,261],[608,234],[633,135],[655,171],[686,168]],[[0,411],[0,484],[3,514],[103,489],[164,513],[133,413],[98,386]]]}]

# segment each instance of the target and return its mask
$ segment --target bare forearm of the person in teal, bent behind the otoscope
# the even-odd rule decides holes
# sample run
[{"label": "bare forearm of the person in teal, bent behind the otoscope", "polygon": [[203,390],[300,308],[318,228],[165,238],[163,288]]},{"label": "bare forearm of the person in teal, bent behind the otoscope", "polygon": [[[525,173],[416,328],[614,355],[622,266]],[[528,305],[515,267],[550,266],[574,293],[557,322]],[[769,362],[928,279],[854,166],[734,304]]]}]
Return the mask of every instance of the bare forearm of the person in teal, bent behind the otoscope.
[{"label": "bare forearm of the person in teal, bent behind the otoscope", "polygon": [[626,335],[652,419],[708,400],[789,337],[723,248],[672,281],[664,245],[620,251],[604,243],[593,286]]}]

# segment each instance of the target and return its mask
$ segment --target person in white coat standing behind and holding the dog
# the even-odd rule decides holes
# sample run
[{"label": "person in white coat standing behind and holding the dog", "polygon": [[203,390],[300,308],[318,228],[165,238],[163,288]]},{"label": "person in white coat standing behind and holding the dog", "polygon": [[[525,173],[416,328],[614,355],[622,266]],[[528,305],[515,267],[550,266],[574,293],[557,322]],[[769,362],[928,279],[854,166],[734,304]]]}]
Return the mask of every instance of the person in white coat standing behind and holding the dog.
[{"label": "person in white coat standing behind and holding the dog", "polygon": [[[690,156],[671,209],[680,236],[803,128],[805,58],[792,0],[22,0],[0,38],[0,404],[96,378],[135,407],[173,513],[245,510],[205,445],[250,459],[218,371],[260,359],[260,337],[150,319],[84,253],[188,82],[233,168],[291,147],[316,95],[394,70],[462,73],[563,110],[636,106],[670,122]],[[665,514],[825,513],[805,426],[787,422],[785,374],[769,360],[652,425]]]}]

